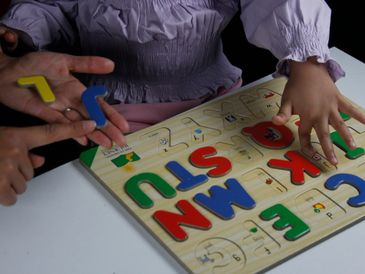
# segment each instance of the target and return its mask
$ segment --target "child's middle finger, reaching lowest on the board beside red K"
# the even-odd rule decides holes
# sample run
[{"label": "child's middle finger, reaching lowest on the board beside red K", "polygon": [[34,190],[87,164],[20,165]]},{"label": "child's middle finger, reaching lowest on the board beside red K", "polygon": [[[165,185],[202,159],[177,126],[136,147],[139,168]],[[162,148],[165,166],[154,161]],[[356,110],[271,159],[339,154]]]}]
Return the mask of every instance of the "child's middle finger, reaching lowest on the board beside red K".
[{"label": "child's middle finger, reaching lowest on the board beside red K", "polygon": [[321,121],[318,121],[318,123],[314,125],[314,129],[317,133],[319,142],[321,143],[326,158],[331,164],[336,165],[337,159],[333,149],[332,141],[330,139],[328,119],[322,119]]}]

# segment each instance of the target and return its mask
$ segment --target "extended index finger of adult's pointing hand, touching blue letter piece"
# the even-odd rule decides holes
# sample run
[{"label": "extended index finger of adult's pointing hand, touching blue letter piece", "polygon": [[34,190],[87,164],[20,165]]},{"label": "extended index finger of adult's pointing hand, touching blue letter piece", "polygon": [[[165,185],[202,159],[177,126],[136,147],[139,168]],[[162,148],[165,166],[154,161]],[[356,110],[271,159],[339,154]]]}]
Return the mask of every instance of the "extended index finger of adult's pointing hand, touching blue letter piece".
[{"label": "extended index finger of adult's pointing hand, touching blue letter piece", "polygon": [[54,142],[77,138],[95,130],[94,121],[77,121],[69,124],[47,124],[23,128],[23,140],[28,149],[48,145]]}]

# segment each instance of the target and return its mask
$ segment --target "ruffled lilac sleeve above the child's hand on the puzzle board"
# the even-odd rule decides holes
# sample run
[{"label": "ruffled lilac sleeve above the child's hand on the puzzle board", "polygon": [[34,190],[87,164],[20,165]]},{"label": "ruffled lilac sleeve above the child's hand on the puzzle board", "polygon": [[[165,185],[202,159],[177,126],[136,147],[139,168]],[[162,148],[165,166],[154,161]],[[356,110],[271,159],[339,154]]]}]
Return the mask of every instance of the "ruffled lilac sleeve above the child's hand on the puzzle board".
[{"label": "ruffled lilac sleeve above the child's hand on the puzzle board", "polygon": [[329,52],[331,10],[323,0],[241,0],[247,39],[279,59],[274,76],[288,76],[287,60],[316,56],[332,79],[345,75]]}]

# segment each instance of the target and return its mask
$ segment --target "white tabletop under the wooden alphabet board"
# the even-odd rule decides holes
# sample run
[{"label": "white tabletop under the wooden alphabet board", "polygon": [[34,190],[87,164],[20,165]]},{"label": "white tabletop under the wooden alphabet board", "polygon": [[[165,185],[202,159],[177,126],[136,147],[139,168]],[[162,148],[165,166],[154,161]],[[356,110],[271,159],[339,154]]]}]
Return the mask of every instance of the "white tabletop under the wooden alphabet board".
[{"label": "white tabletop under the wooden alphabet board", "polygon": [[[338,87],[365,107],[365,64],[333,48],[347,77]],[[265,77],[251,85],[270,79]],[[364,273],[365,222],[270,273]],[[185,273],[76,160],[28,184],[15,206],[0,206],[0,273]]]}]

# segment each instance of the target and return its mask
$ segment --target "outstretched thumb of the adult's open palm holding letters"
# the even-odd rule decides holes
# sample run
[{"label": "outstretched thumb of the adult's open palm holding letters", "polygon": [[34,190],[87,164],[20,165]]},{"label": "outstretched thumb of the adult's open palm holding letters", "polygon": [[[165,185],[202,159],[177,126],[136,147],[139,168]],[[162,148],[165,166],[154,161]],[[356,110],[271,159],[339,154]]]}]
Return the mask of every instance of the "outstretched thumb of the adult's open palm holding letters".
[{"label": "outstretched thumb of the adult's open palm holding letters", "polygon": [[114,70],[114,62],[97,56],[73,56],[65,54],[68,68],[73,72],[105,74]]}]

